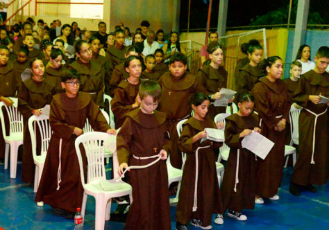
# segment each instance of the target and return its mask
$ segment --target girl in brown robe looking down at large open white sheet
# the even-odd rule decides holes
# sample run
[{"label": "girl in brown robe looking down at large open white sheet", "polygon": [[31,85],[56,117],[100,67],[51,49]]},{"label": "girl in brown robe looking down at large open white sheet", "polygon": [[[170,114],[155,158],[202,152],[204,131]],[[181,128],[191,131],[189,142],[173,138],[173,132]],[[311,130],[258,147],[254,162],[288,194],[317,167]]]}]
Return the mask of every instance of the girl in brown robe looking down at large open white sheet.
[{"label": "girl in brown robe looking down at large open white sheet", "polygon": [[251,94],[239,92],[236,98],[239,111],[226,118],[225,143],[230,147],[230,154],[221,193],[228,216],[244,221],[247,217],[241,213],[242,210],[255,208],[256,161],[255,154],[242,148],[241,141],[253,131],[260,132],[260,119],[253,114],[255,103]]}]

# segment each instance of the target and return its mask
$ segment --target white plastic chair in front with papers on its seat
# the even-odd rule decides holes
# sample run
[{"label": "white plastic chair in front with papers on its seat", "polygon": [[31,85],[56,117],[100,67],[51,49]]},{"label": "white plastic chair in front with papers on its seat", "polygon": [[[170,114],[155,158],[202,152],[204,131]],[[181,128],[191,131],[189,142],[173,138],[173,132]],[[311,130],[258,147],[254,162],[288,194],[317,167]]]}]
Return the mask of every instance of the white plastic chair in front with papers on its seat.
[{"label": "white plastic chair in front with papers on its seat", "polygon": [[[110,207],[113,197],[122,197],[124,195],[130,196],[130,203],[133,201],[132,188],[129,184],[119,181],[117,168],[113,168],[115,179],[110,180],[113,190],[103,190],[101,181],[106,180],[106,170],[104,167],[104,150],[103,145],[106,139],[110,138],[110,134],[105,132],[88,132],[78,136],[75,141],[76,155],[80,166],[81,183],[85,192],[83,193],[83,204],[81,206],[81,214],[83,220],[85,218],[85,206],[87,204],[87,195],[92,195],[95,198],[95,229],[103,230],[105,220],[110,220]],[[83,159],[81,156],[80,145],[83,145],[87,158],[87,183],[85,183],[85,176],[83,171]],[[117,161],[117,154],[114,154],[113,165],[119,166]]]}]

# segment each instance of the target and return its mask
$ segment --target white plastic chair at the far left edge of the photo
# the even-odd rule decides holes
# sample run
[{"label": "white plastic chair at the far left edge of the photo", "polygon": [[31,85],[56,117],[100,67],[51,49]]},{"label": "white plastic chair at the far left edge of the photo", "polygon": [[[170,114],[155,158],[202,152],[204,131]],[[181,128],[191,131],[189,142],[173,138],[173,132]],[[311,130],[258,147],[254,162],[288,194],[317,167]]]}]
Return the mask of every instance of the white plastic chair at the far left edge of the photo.
[{"label": "white plastic chair at the far left edge of the photo", "polygon": [[[5,152],[5,166],[4,168],[8,168],[8,157],[9,157],[9,147],[10,147],[10,178],[16,178],[16,170],[17,170],[17,155],[19,145],[23,144],[23,116],[19,113],[17,109],[17,98],[10,98],[14,104],[10,107],[5,105],[5,103],[0,102],[0,118],[1,118],[1,127],[3,133],[3,139],[6,143],[6,152]],[[9,118],[9,135],[6,135],[6,126],[5,120],[3,116],[2,108],[6,108],[6,112]]]}]

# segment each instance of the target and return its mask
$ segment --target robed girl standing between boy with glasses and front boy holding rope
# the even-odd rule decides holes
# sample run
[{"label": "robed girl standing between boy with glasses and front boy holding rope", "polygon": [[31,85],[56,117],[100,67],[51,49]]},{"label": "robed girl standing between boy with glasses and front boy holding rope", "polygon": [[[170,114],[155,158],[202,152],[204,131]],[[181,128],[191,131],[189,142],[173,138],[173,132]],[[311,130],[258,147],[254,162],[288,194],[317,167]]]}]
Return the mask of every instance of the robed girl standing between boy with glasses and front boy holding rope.
[{"label": "robed girl standing between boy with glasses and front boy holding rope", "polygon": [[124,67],[129,73],[129,78],[121,80],[119,86],[115,89],[115,96],[111,100],[111,110],[115,115],[116,129],[124,123],[128,112],[140,106],[137,98],[142,74],[140,59],[135,55],[130,56],[124,62]]}]

